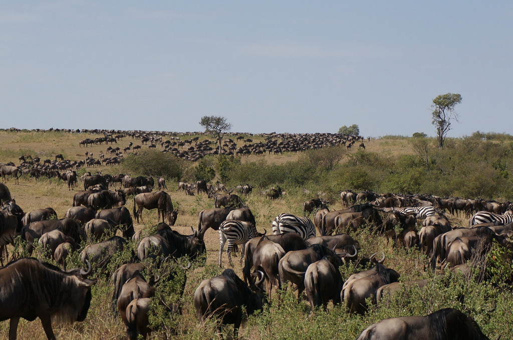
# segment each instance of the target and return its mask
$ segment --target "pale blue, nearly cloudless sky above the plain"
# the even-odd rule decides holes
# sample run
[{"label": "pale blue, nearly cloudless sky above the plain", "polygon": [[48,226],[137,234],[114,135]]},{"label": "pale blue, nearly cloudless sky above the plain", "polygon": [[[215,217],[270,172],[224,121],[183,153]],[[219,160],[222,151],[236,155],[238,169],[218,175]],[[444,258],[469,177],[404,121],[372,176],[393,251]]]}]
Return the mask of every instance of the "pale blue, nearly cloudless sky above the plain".
[{"label": "pale blue, nearly cloudless sky above the plain", "polygon": [[1,128],[513,134],[513,2],[2,1]]}]

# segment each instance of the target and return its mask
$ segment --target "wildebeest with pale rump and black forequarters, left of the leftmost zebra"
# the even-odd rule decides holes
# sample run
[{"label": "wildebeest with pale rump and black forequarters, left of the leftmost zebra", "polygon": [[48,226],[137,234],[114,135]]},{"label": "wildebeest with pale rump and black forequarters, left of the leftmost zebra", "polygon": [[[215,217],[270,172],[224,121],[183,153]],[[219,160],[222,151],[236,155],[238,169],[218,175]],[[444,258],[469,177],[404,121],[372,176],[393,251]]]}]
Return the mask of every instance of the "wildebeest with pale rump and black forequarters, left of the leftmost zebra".
[{"label": "wildebeest with pale rump and black forequarters, left of the leftmost zebra", "polygon": [[[139,260],[154,259],[156,257],[165,258],[171,256],[173,258],[181,258],[189,256],[195,259],[198,255],[206,251],[203,234],[198,230],[192,229],[192,235],[181,235],[179,232],[171,230],[171,228],[161,223],[160,230],[157,235],[145,237],[137,247],[137,257]],[[159,229],[159,227],[157,227]]]}]

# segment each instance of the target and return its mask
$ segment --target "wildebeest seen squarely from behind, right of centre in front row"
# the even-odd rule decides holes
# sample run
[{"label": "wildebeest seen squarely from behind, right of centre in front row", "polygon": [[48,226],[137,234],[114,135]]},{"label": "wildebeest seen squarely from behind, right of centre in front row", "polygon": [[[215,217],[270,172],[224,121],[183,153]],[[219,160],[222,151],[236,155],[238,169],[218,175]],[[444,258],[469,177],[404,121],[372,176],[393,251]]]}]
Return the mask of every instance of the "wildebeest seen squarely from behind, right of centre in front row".
[{"label": "wildebeest seen squarely from behind, right of centre in front row", "polygon": [[338,256],[327,255],[306,268],[305,291],[310,307],[323,306],[326,310],[328,302],[340,304],[340,292],[344,281],[339,267],[342,261]]}]

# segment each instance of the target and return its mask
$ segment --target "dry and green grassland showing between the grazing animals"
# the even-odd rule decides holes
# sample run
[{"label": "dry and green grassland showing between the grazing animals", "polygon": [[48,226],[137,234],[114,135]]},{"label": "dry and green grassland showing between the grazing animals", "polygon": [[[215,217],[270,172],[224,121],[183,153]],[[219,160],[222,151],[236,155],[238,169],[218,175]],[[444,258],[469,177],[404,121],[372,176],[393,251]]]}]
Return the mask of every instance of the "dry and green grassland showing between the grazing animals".
[{"label": "dry and green grassland showing between the grazing animals", "polygon": [[[0,161],[12,161],[18,164],[21,155],[40,156],[43,159],[53,159],[55,154],[63,154],[71,160],[85,158],[85,152],[95,156],[101,151],[105,153],[105,145],[88,148],[78,146],[84,138],[94,138],[84,134],[68,134],[61,132],[1,132],[0,133]],[[202,137],[204,138],[204,137]],[[253,138],[258,141],[258,137]],[[125,138],[117,146],[122,149],[132,141]],[[137,144],[134,141],[134,144]],[[398,159],[404,155],[414,155],[408,140],[398,137],[396,139],[378,139],[366,143],[367,152],[387,155]],[[345,152],[340,164],[351,162],[351,155],[356,150]],[[287,162],[298,162],[300,154],[250,156],[241,160],[242,163],[251,163],[265,159],[268,164],[284,165]],[[92,169],[93,171],[96,169]],[[119,168],[100,168],[104,173],[117,173]],[[136,175],[136,174],[132,174]],[[320,177],[322,178],[322,177]],[[247,178],[251,183],[251,178]],[[19,185],[14,185],[12,179],[7,185],[16,202],[25,211],[47,206],[53,207],[59,218],[64,217],[66,210],[71,207],[74,192],[70,192],[67,185],[55,179],[30,179],[22,177]],[[280,183],[278,183],[280,184]],[[322,187],[323,183],[318,183]],[[79,188],[81,184],[79,183]],[[179,208],[179,217],[173,229],[189,234],[191,227],[198,227],[198,213],[202,209],[213,207],[213,200],[206,195],[186,196],[177,191],[177,183],[167,182],[169,194],[175,207]],[[340,187],[345,189],[345,187]],[[262,188],[255,188],[253,193],[244,197],[245,203],[251,208],[257,220],[259,231],[271,229],[271,221],[283,212],[302,215],[301,203],[315,194],[305,194],[301,187],[287,187],[287,195],[281,199],[270,200],[261,193]],[[133,200],[129,199],[127,208],[132,211]],[[332,200],[330,208],[341,208],[340,202]],[[135,224],[136,230],[148,230],[156,224],[156,212],[143,212],[145,224]],[[463,218],[450,216],[453,224],[463,224]],[[509,286],[492,286],[489,283],[476,284],[472,280],[463,278],[454,279],[442,272],[436,274],[425,271],[425,258],[418,251],[409,253],[403,249],[385,249],[383,237],[370,235],[362,231],[354,235],[361,245],[363,255],[374,251],[386,252],[386,265],[401,273],[402,281],[413,279],[428,279],[429,287],[426,291],[416,291],[412,294],[400,294],[398,300],[391,301],[380,307],[371,308],[365,316],[348,315],[342,306],[330,306],[328,312],[321,310],[310,313],[311,310],[304,300],[297,301],[292,289],[281,293],[280,299],[273,299],[263,312],[249,318],[240,335],[247,339],[354,339],[359,333],[373,322],[385,317],[423,315],[441,308],[458,308],[470,314],[482,327],[490,338],[502,335],[501,339],[513,338],[513,297]],[[202,279],[220,274],[222,269],[217,266],[219,251],[219,235],[214,230],[208,230],[205,235],[207,247],[206,264],[194,264],[187,272],[187,285],[183,298],[183,315],[177,318],[177,339],[205,339],[216,338],[213,323],[199,325],[192,296],[195,288]],[[226,255],[223,257],[223,268],[228,268]],[[235,271],[242,276],[238,258],[234,259]],[[342,268],[342,275],[347,278],[354,268]],[[106,275],[97,275],[98,282],[93,288],[93,301],[85,322],[72,325],[56,325],[54,330],[60,339],[123,339],[126,337],[124,326],[119,317],[110,310],[110,296],[113,286]],[[231,329],[225,330],[225,337],[230,338]],[[155,338],[163,337],[165,332],[156,332]],[[0,339],[7,338],[8,322],[0,323]],[[43,328],[38,321],[22,321],[18,328],[18,338],[33,340],[45,339]]]}]

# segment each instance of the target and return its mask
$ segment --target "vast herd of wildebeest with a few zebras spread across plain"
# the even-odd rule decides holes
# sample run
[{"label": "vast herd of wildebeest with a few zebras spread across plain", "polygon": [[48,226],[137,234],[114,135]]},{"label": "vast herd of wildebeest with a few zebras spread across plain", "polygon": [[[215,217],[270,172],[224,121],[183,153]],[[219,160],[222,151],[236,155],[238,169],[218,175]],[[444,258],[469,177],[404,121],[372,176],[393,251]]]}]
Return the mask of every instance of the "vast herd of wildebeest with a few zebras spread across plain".
[{"label": "vast herd of wildebeest with a few zebras spread across plain", "polygon": [[[102,142],[113,143],[127,135],[130,133],[111,133],[101,138],[106,138]],[[286,137],[282,141],[287,145],[301,146],[298,151],[342,143],[343,138],[335,134],[329,139],[333,144],[323,144],[320,141],[324,139],[320,135],[329,134],[301,136],[297,140]],[[159,137],[162,136],[137,134],[137,138],[148,138],[147,142],[152,144],[162,141]],[[275,142],[272,138],[269,141]],[[89,139],[81,144],[87,147],[91,142],[101,141]],[[168,152],[177,152],[173,150],[176,145],[173,142],[162,143]],[[188,159],[195,159],[202,147],[198,144],[181,157],[188,155]],[[291,151],[284,144],[257,144],[262,145],[248,144],[251,145],[248,146],[250,153],[259,150],[271,153],[279,149]],[[238,149],[230,150],[229,142],[227,145],[227,152],[240,154]],[[179,156],[180,152],[176,155]],[[100,164],[106,164],[103,159]],[[152,297],[158,293],[154,288],[155,278],[149,277],[144,270],[148,261],[159,266],[182,257],[195,260],[206,251],[204,235],[208,229],[216,230],[220,235],[220,266],[225,246],[230,266],[233,266],[231,252],[238,246],[241,248],[242,279],[233,269],[226,269],[221,275],[202,281],[194,292],[194,308],[200,322],[215,317],[219,321],[219,329],[221,325],[233,324],[234,336],[247,315],[261,310],[271,299],[277,299],[277,292],[287,289],[289,283],[297,289],[298,299],[304,299],[306,295],[312,310],[326,309],[332,302],[334,305],[343,303],[349,313],[359,314],[366,313],[368,298],[373,304],[379,304],[404,287],[423,289],[426,286],[426,280],[399,283],[400,273],[385,266],[385,253],[378,249],[370,256],[360,256],[359,242],[351,237],[359,229],[366,228],[376,235],[383,235],[387,239],[387,247],[389,241],[391,247],[408,250],[418,247],[429,259],[426,270],[448,266],[453,272],[463,273],[470,272],[472,267],[479,270],[492,242],[497,241],[507,247],[513,233],[511,202],[346,190],[341,193],[343,209],[331,210],[328,202],[313,198],[303,203],[304,216],[283,213],[269,221],[272,234],[267,235],[265,228],[262,233],[257,230],[252,211],[244,204],[246,195],[259,195],[252,193],[251,185],[228,189],[220,183],[211,185],[198,181],[180,182],[177,189],[184,195],[208,195],[215,208],[200,211],[198,229],[191,227],[191,235],[181,235],[171,228],[178,211],[173,208],[162,177],[156,183],[152,177],[102,175],[99,171],[78,177],[76,169],[88,163],[65,161],[62,155],[56,155],[54,161],[41,166],[39,161],[27,157],[20,157],[20,162],[19,166],[0,164],[3,177],[3,183],[0,183],[0,260],[2,265],[8,262],[0,268],[0,306],[3,307],[0,308],[0,320],[10,319],[9,339],[16,338],[20,317],[29,321],[39,317],[48,339],[55,338],[52,318],[84,321],[91,302],[91,286],[96,282],[88,279],[88,275],[105,271],[110,260],[117,252],[123,251],[129,240],[137,244],[136,253],[112,273],[112,303],[114,312],[126,325],[128,338],[136,339],[139,334],[146,338],[151,333],[148,314]],[[63,179],[70,190],[74,190],[78,181],[83,183],[84,190],[74,193],[73,206],[64,218],[57,219],[55,210],[50,207],[24,211],[16,204],[11,191],[16,191],[18,172],[37,177],[32,173],[34,169],[39,172],[37,176],[44,174]],[[8,188],[4,183],[10,175],[15,180],[12,181],[14,186],[10,184]],[[153,191],[155,184],[157,191]],[[116,189],[118,185],[120,188]],[[266,199],[275,200],[280,199],[283,191],[277,185],[263,194]],[[134,206],[129,211],[125,204],[132,196]],[[134,220],[144,223],[144,208],[157,210],[158,225],[154,227],[154,235],[146,236],[143,229],[134,230]],[[468,225],[450,223],[449,216],[462,214],[468,218]],[[121,236],[115,235],[116,230]],[[18,236],[23,240],[27,254],[32,254],[35,248],[44,250],[61,267],[9,254],[8,245],[14,245]],[[66,260],[71,252],[76,251],[80,251],[84,268],[69,269]],[[349,263],[370,269],[343,281],[340,269]],[[172,278],[173,273],[169,278],[156,280]],[[486,280],[486,275],[481,275],[481,279]],[[183,293],[184,287],[185,283],[179,293]],[[169,314],[181,313],[180,303],[164,307]],[[172,335],[173,331],[169,333]],[[368,327],[359,337],[389,338],[487,339],[470,317],[449,308],[427,316],[386,319]]]}]

